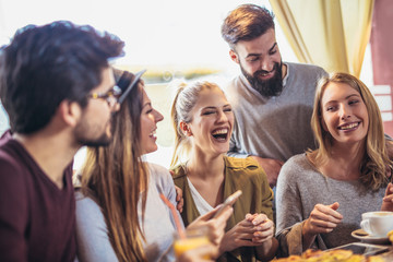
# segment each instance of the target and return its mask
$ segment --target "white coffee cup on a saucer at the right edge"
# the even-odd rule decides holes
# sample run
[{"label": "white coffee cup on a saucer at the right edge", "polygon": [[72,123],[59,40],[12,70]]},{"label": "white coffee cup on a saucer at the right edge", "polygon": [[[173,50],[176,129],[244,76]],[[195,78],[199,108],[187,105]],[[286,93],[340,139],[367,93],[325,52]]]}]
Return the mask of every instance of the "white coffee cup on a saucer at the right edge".
[{"label": "white coffee cup on a saucer at the right edge", "polygon": [[393,230],[393,212],[374,211],[361,214],[360,227],[373,237],[386,237]]}]

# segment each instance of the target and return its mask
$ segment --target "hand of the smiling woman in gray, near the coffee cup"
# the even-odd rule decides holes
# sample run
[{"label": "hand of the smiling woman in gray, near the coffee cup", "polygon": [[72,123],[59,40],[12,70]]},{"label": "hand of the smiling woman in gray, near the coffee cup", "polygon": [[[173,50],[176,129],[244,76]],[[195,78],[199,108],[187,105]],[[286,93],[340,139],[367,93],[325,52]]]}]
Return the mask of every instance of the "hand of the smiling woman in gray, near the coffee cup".
[{"label": "hand of the smiling woman in gray, near the coffee cup", "polygon": [[331,205],[315,204],[302,227],[302,236],[306,240],[303,242],[311,245],[318,234],[331,233],[341,223],[343,216],[336,211],[338,206],[337,202]]}]

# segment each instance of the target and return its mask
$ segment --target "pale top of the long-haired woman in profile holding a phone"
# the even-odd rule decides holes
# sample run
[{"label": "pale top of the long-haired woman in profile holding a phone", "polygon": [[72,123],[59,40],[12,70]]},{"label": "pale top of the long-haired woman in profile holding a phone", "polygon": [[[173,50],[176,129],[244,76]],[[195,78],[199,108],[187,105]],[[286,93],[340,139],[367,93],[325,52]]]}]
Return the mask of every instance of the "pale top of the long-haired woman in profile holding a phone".
[{"label": "pale top of the long-haired woman in profile holding a phone", "polygon": [[[168,169],[148,164],[150,180],[144,217],[144,252],[148,261],[175,261],[172,240],[175,222],[159,191],[176,206],[174,180]],[[159,190],[159,191],[158,191]],[[139,206],[141,211],[141,205]],[[178,214],[181,222],[180,214]],[[142,223],[141,213],[139,213]],[[91,198],[76,192],[76,242],[81,262],[118,261],[108,238],[108,229],[100,207]]]}]

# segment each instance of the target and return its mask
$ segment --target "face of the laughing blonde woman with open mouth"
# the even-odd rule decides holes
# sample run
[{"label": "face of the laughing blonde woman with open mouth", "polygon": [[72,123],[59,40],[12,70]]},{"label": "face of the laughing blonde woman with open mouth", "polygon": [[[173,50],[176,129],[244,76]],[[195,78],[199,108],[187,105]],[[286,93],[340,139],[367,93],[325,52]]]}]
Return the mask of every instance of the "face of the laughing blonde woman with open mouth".
[{"label": "face of the laughing blonde woman with open mouth", "polygon": [[180,127],[191,138],[193,146],[205,154],[223,154],[229,150],[234,114],[223,91],[218,87],[201,90],[191,116],[191,122],[181,122]]}]

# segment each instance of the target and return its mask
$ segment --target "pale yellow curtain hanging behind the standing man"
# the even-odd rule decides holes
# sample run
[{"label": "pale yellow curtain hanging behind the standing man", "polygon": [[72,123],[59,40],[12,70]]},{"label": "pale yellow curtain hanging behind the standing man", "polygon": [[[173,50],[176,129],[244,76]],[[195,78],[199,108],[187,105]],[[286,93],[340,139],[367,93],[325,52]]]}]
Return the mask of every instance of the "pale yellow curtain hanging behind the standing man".
[{"label": "pale yellow curtain hanging behind the standing man", "polygon": [[300,62],[360,76],[374,0],[270,0]]}]

